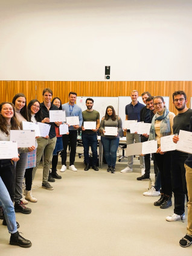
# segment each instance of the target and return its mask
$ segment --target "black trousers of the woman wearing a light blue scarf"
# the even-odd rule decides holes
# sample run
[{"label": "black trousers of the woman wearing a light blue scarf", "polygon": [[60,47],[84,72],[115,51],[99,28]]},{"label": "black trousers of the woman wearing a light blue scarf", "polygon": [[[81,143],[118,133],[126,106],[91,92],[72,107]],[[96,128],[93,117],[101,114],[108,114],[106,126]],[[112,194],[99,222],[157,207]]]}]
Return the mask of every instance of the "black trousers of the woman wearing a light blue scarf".
[{"label": "black trousers of the woman wearing a light blue scarf", "polygon": [[154,154],[158,169],[161,173],[161,193],[172,196],[171,188],[171,151],[161,154]]}]

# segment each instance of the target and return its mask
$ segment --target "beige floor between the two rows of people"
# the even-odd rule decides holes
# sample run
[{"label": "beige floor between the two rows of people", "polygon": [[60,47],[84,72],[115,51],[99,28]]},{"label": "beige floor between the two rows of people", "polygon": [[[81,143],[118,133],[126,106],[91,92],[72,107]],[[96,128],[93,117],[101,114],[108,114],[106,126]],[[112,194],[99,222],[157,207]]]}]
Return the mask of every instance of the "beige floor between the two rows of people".
[{"label": "beige floor between the two rows of people", "polygon": [[[161,210],[153,206],[158,197],[142,196],[149,182],[136,181],[138,161],[133,173],[120,173],[126,166],[123,161],[117,162],[117,171],[111,174],[106,165],[99,171],[83,171],[83,159],[76,159],[77,172],[59,173],[62,179],[52,183],[53,191],[33,190],[38,202],[28,204],[32,213],[16,214],[19,231],[32,247],[8,245],[10,235],[0,225],[1,255],[192,255],[192,246],[179,246],[187,220],[166,222],[173,206]],[[42,167],[34,184],[41,186],[41,179]]]}]

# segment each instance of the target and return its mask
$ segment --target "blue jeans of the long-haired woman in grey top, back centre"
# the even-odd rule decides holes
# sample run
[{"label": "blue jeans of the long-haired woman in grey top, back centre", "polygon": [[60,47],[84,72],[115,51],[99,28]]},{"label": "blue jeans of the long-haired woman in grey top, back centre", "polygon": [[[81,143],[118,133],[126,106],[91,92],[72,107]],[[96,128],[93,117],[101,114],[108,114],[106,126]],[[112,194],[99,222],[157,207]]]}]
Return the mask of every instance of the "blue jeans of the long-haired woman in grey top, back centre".
[{"label": "blue jeans of the long-haired woman in grey top, back centre", "polygon": [[106,138],[101,136],[101,142],[103,145],[104,157],[106,159],[107,165],[115,167],[120,138]]}]

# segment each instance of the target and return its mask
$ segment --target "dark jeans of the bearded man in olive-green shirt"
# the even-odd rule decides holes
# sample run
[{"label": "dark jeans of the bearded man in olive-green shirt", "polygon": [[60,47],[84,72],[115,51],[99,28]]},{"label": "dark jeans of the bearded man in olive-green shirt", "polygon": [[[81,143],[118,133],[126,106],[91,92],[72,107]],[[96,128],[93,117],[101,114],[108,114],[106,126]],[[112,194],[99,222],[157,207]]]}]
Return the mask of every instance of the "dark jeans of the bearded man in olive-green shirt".
[{"label": "dark jeans of the bearded man in olive-green shirt", "polygon": [[85,164],[90,164],[89,163],[89,146],[91,146],[92,165],[96,165],[97,164],[97,133],[82,132],[82,142],[83,142],[83,148],[84,148]]}]

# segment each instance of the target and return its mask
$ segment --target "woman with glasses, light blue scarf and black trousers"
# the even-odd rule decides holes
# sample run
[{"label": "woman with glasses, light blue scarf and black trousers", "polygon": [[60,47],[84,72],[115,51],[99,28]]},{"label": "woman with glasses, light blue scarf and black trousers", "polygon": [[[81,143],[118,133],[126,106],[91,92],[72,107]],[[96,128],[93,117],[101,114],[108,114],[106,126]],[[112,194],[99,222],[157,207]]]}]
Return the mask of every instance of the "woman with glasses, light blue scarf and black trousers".
[{"label": "woman with glasses, light blue scarf and black trousers", "polygon": [[149,140],[156,139],[158,141],[158,150],[154,157],[161,173],[161,197],[154,205],[160,206],[161,209],[166,209],[172,205],[171,152],[161,151],[160,138],[173,134],[173,118],[175,115],[165,107],[164,98],[161,96],[153,98],[153,105],[156,109],[156,114],[152,120]]}]

